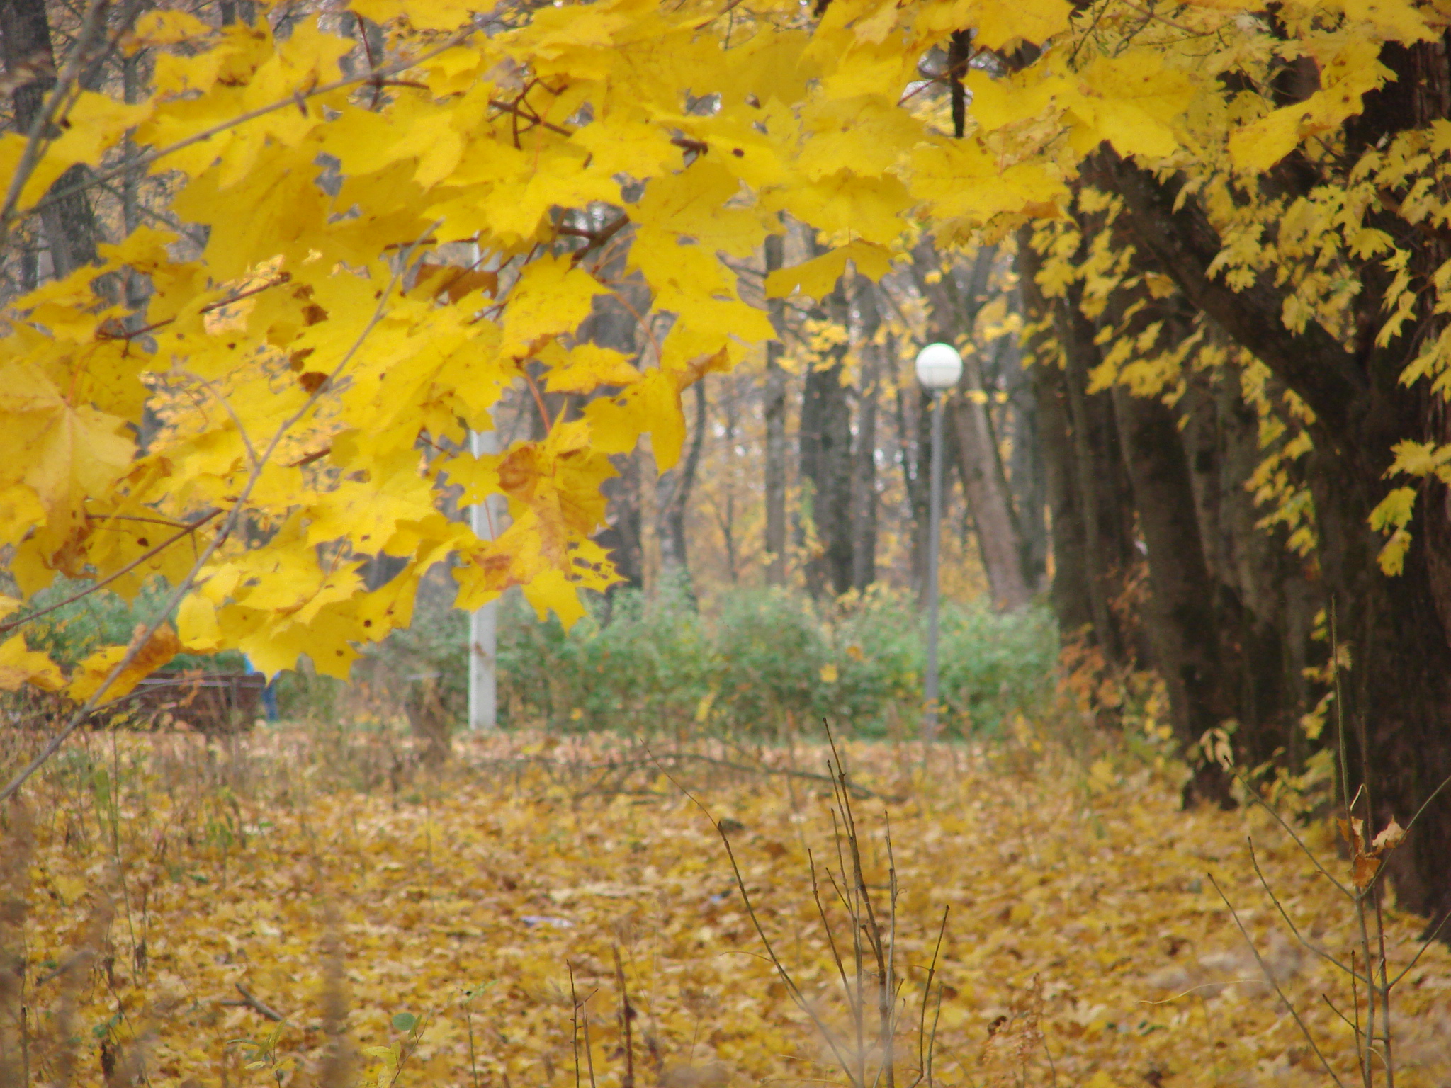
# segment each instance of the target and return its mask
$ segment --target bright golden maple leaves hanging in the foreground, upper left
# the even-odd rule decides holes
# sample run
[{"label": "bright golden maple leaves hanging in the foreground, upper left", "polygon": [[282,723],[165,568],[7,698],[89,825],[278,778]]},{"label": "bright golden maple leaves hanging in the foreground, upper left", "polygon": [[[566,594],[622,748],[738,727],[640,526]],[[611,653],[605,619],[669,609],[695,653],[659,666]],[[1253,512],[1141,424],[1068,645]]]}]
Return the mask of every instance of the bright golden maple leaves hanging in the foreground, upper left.
[{"label": "bright golden maple leaves hanging in the foreground, upper left", "polygon": [[[344,670],[450,554],[467,560],[460,605],[521,585],[576,615],[577,588],[609,577],[588,540],[608,454],[649,434],[672,464],[682,389],[773,335],[737,268],[782,213],[830,248],[766,289],[820,297],[847,261],[882,274],[913,216],[939,238],[1056,216],[1077,157],[1101,141],[1149,162],[1213,155],[1217,141],[1262,165],[1354,110],[1381,78],[1380,41],[1425,33],[1410,4],[1347,3],[1360,29],[1306,46],[1326,73],[1319,97],[1294,116],[1230,119],[1214,104],[1229,61],[1194,42],[1239,28],[1236,0],[1188,4],[1174,23],[1110,3],[1091,26],[1065,0],[836,0],[815,22],[769,0],[601,0],[496,13],[488,32],[453,3],[353,10],[385,29],[382,55],[334,16],[274,35],[267,19],[147,13],[126,48],[152,51],[151,94],[81,93],[15,193],[33,206],[75,162],[115,170],[129,132],[174,189],[168,210],[206,234],[190,252],[138,229],[104,248],[103,268],[12,308],[0,544],[26,592],[145,554],[141,518],[183,525],[245,495],[239,518],[207,529],[237,532],[183,606],[194,648],[242,646],[268,670],[308,651]],[[953,139],[918,61],[962,28],[988,49],[1077,46],[1010,75],[971,68]],[[1129,35],[1126,48],[1100,48],[1104,33]],[[26,154],[23,138],[0,139],[0,164]],[[145,276],[144,313],[99,305],[102,271]],[[627,283],[649,296],[627,306],[643,351],[582,342],[580,323],[601,300],[624,305]],[[496,461],[435,456],[528,386],[588,403]],[[142,448],[148,396],[164,425]],[[470,499],[502,490],[514,522],[479,541],[438,512],[447,480]],[[357,567],[379,553],[408,566],[369,590]],[[120,588],[180,577],[184,559],[184,545],[149,556]]]}]

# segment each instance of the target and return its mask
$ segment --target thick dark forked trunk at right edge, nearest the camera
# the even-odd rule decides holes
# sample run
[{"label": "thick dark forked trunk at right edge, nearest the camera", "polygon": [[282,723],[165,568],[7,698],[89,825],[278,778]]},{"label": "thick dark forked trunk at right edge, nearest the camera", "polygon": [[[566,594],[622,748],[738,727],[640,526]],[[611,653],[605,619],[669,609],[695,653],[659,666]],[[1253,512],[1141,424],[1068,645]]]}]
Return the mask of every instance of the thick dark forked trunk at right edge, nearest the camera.
[{"label": "thick dark forked trunk at right edge, nearest the camera", "polygon": [[[1428,88],[1445,87],[1447,58],[1444,51],[1436,54],[1439,45],[1399,49],[1406,61],[1402,78],[1367,96],[1358,123],[1371,126],[1368,135],[1399,129],[1419,115]],[[1387,48],[1387,58],[1396,54]],[[1407,94],[1413,100],[1409,106],[1400,103]],[[1434,545],[1445,544],[1447,512],[1444,502],[1421,508],[1426,529],[1415,534],[1403,573],[1394,577],[1378,569],[1381,540],[1367,519],[1389,486],[1384,473],[1392,445],[1406,438],[1445,440],[1439,408],[1429,395],[1399,380],[1421,332],[1435,335],[1432,316],[1418,315],[1418,328],[1386,345],[1367,335],[1347,347],[1315,322],[1291,331],[1281,319],[1280,287],[1268,274],[1241,292],[1210,277],[1220,239],[1196,197],[1184,197],[1177,183],[1159,183],[1110,151],[1100,151],[1090,170],[1098,184],[1123,197],[1136,241],[1185,297],[1316,413],[1307,471],[1318,553],[1339,635],[1354,654],[1342,706],[1354,754],[1344,773],[1352,783],[1367,785],[1374,827],[1390,817],[1406,821],[1451,776],[1451,643],[1438,606],[1438,598],[1448,596],[1442,580],[1447,564],[1444,553],[1432,556]],[[1428,258],[1438,257],[1438,247],[1434,238],[1425,241],[1413,261],[1415,274],[1429,276],[1435,260]],[[1361,325],[1374,331],[1384,270],[1367,264],[1361,273]],[[1402,907],[1434,918],[1451,908],[1451,791],[1442,791],[1421,812],[1410,838],[1392,856],[1390,872]]]}]

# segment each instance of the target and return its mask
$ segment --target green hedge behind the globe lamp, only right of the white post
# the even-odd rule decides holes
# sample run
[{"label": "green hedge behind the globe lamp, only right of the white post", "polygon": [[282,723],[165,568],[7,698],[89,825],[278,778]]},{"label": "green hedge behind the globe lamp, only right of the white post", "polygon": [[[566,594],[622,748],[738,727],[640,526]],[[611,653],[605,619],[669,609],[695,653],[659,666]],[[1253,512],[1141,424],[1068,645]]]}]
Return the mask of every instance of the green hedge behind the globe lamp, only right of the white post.
[{"label": "green hedge behind the globe lamp, only right of the white post", "polygon": [[[519,602],[499,618],[505,724],[628,733],[708,730],[779,735],[823,718],[881,735],[892,718],[916,728],[923,698],[924,619],[901,593],[871,592],[826,609],[782,590],[723,595],[701,615],[679,590],[615,595],[567,634]],[[942,721],[992,733],[1032,714],[1052,688],[1056,632],[1029,609],[979,605],[942,614]]]}]

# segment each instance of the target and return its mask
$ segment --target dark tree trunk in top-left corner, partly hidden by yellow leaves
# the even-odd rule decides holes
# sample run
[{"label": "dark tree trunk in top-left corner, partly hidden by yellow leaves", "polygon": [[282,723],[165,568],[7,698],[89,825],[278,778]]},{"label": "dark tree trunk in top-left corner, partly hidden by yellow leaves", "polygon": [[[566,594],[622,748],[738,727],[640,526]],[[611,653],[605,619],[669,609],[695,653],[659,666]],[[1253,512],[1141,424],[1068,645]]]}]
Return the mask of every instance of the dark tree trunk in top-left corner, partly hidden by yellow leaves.
[{"label": "dark tree trunk in top-left corner, partly hidden by yellow leaves", "polygon": [[[0,3],[0,44],[7,74],[23,73],[12,94],[15,125],[29,132],[55,86],[55,49],[46,20],[45,0],[3,0]],[[64,193],[90,177],[86,165],[75,164],[51,186]],[[41,210],[41,225],[51,251],[51,271],[57,279],[70,276],[83,264],[93,264],[96,252],[96,215],[84,190],[68,193]]]}]

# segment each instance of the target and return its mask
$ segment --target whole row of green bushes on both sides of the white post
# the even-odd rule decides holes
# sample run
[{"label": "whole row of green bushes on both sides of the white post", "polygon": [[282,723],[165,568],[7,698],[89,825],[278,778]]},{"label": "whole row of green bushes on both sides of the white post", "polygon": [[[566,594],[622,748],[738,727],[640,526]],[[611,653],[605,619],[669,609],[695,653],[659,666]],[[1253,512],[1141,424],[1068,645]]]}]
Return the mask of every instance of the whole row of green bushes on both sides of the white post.
[{"label": "whole row of green bushes on both sides of the white post", "polygon": [[[62,601],[83,585],[58,582],[33,605]],[[106,590],[87,595],[36,619],[28,638],[74,667],[93,650],[129,640],[138,622],[155,615],[164,589],[152,582],[132,603]],[[431,599],[419,602],[411,628],[369,648],[354,679],[386,696],[432,677],[461,722],[469,617],[447,606],[447,593]],[[884,735],[895,721],[910,733],[923,698],[924,630],[916,603],[885,589],[834,605],[779,589],[733,590],[704,612],[682,586],[650,596],[622,590],[608,603],[596,596],[567,632],[553,615],[540,622],[509,593],[499,608],[501,722],[772,738],[815,730],[823,720],[858,735]],[[1056,632],[1045,609],[997,615],[982,605],[946,603],[943,727],[994,733],[1014,712],[1033,714],[1052,688],[1055,662]],[[241,672],[245,663],[226,651],[183,654],[168,667]],[[344,692],[341,682],[306,667],[277,683],[283,717],[344,717]],[[382,704],[377,709],[389,714]]]}]

